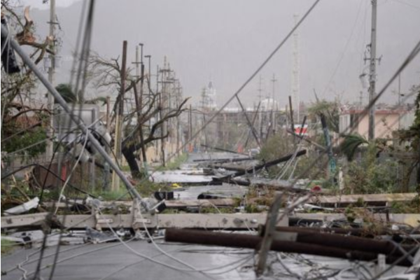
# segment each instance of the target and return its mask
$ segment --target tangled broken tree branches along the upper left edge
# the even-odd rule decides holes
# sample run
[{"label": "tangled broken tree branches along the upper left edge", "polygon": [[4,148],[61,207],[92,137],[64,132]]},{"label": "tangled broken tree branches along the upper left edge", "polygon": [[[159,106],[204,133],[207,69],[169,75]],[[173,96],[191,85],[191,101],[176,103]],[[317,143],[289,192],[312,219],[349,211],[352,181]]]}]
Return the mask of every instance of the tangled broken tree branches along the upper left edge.
[{"label": "tangled broken tree branches along the upper left edge", "polygon": [[[13,30],[17,30],[16,34],[10,33],[8,38],[1,38],[2,43],[2,58],[6,55],[6,61],[10,62],[10,59],[14,59],[13,50],[8,45],[8,39],[14,38],[20,45],[27,45],[27,50],[30,52],[30,57],[34,59],[35,64],[38,64],[43,60],[45,54],[50,53],[54,55],[54,52],[50,50],[49,45],[53,38],[46,37],[45,39],[37,38],[34,30],[34,21],[31,20],[29,15],[29,7],[22,9],[20,6],[13,6],[10,1],[1,1],[1,23],[4,27],[13,27]],[[4,48],[4,49],[3,49]],[[6,52],[6,48],[8,52]],[[4,52],[3,52],[4,50]],[[2,59],[3,61],[3,59]],[[30,102],[26,102],[25,99],[30,99],[31,94],[34,92],[37,80],[32,71],[27,66],[19,65],[18,59],[15,60],[18,68],[15,69],[19,73],[10,73],[3,62],[4,72],[1,75],[1,103],[2,103],[2,127],[1,135],[3,139],[7,139],[2,142],[2,147],[19,147],[19,142],[23,139],[31,139],[31,134],[36,137],[39,135],[38,132],[42,132],[45,125],[48,123],[43,122],[46,115],[50,115],[50,111],[47,109],[36,108]],[[8,64],[8,63],[7,63]],[[29,116],[36,116],[38,123],[32,125],[29,124]],[[18,122],[18,118],[27,118],[26,122]],[[10,135],[16,135],[15,132],[21,130],[25,132],[25,137],[10,137]],[[17,134],[22,136],[22,133]],[[35,137],[35,138],[36,138]],[[38,139],[38,138],[36,138]],[[9,145],[13,142],[14,145]],[[24,144],[31,144],[30,141],[23,141]],[[9,152],[12,152],[9,149]]]}]

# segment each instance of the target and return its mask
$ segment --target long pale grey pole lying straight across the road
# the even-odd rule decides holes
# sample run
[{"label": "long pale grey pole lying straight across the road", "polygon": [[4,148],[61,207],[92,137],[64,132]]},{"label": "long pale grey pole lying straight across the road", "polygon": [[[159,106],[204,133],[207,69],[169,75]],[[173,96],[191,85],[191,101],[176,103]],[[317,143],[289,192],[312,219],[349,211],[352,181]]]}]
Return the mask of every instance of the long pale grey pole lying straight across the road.
[{"label": "long pale grey pole lying straight across the road", "polygon": [[[58,215],[53,217],[55,223],[53,228],[200,228],[205,230],[249,230],[257,229],[260,223],[265,221],[263,213],[252,214],[156,214],[140,215],[136,210],[137,204],[132,204],[130,214],[96,214],[96,215]],[[40,228],[45,218],[50,215],[48,212],[3,216],[1,217],[1,228]],[[285,217],[276,225],[287,225],[288,218]]]}]

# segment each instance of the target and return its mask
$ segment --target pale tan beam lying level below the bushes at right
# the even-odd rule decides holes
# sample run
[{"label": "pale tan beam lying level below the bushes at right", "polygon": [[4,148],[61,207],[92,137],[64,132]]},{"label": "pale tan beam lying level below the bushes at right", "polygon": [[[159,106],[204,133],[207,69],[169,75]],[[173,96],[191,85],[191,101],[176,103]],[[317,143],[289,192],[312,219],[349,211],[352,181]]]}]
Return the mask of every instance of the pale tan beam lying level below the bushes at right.
[{"label": "pale tan beam lying level below the bushes at right", "polygon": [[318,196],[312,197],[310,203],[321,204],[348,204],[356,203],[360,200],[363,202],[406,202],[414,200],[416,193],[391,193],[379,195],[335,195],[335,196]]}]

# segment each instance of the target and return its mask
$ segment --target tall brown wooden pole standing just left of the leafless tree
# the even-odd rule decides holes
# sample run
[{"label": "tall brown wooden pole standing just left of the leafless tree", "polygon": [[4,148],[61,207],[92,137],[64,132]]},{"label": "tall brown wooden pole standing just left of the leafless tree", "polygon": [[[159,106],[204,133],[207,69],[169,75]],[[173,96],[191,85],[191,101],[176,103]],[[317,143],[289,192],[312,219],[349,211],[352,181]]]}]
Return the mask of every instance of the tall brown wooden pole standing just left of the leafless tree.
[{"label": "tall brown wooden pole standing just left of the leafless tree", "polygon": [[[123,63],[121,65],[121,88],[120,88],[120,99],[118,106],[118,113],[116,116],[116,140],[114,150],[116,152],[117,161],[121,163],[122,150],[121,144],[123,141],[123,114],[124,114],[124,95],[125,95],[125,76],[127,68],[127,41],[123,42]],[[112,190],[118,190],[120,188],[120,178],[113,172],[112,176]]]}]

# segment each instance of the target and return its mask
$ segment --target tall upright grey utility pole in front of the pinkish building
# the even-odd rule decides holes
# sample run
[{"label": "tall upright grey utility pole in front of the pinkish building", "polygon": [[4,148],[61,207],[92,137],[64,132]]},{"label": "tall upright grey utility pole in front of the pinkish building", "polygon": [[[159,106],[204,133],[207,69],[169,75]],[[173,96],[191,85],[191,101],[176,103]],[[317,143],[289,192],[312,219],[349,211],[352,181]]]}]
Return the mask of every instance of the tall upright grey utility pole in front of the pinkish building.
[{"label": "tall upright grey utility pole in front of the pinkish building", "polygon": [[369,140],[374,139],[374,104],[376,96],[376,36],[377,36],[377,0],[372,0],[372,30],[370,35],[370,74],[369,74]]}]

